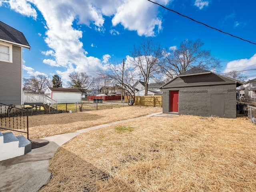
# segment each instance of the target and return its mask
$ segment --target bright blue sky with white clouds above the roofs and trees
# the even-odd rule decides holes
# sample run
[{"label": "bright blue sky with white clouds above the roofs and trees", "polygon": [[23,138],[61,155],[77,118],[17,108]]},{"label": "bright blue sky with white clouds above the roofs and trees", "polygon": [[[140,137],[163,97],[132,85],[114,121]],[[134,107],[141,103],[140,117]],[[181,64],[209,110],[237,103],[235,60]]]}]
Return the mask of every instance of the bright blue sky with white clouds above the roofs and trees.
[{"label": "bright blue sky with white clouds above the roofs and trees", "polygon": [[[254,0],[155,0],[172,10],[256,43]],[[23,76],[96,71],[121,63],[134,45],[153,38],[164,48],[204,42],[221,72],[256,69],[256,45],[228,36],[147,0],[0,0],[0,20],[26,36]],[[244,71],[249,79],[256,70]]]}]

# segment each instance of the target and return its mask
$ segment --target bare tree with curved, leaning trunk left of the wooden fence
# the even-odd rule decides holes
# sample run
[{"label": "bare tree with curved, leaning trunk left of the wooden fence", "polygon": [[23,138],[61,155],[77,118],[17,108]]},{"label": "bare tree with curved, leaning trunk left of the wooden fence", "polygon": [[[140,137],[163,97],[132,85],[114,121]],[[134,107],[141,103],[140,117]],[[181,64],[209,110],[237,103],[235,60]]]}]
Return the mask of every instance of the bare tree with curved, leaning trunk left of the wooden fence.
[{"label": "bare tree with curved, leaning trunk left of the wooden fence", "polygon": [[127,65],[108,65],[109,70],[100,72],[102,76],[112,82],[113,85],[120,85],[124,94],[130,96],[133,100],[129,105],[133,105],[135,101],[134,77],[136,76],[134,67]]}]

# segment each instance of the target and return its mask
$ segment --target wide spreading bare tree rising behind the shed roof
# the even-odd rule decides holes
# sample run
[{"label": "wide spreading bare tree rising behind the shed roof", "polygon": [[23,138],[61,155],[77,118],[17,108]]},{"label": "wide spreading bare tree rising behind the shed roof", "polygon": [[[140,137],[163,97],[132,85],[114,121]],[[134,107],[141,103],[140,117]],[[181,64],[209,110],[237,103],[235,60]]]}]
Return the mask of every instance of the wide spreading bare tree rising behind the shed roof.
[{"label": "wide spreading bare tree rising behind the shed roof", "polygon": [[173,79],[178,74],[190,68],[199,67],[206,70],[218,71],[220,61],[214,58],[210,51],[202,50],[204,43],[198,39],[196,41],[184,40],[179,48],[170,51],[165,49],[162,54],[163,62],[160,63],[160,71],[166,74],[169,79]]}]

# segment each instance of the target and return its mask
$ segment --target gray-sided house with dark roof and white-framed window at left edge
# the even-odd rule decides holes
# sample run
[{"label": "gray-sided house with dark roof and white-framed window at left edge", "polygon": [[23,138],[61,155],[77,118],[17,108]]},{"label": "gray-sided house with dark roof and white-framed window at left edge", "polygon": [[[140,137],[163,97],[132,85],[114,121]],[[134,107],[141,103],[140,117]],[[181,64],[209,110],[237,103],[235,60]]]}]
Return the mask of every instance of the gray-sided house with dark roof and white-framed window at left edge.
[{"label": "gray-sided house with dark roof and white-framed window at left edge", "polygon": [[24,34],[0,21],[0,103],[22,104],[22,48],[30,49]]}]

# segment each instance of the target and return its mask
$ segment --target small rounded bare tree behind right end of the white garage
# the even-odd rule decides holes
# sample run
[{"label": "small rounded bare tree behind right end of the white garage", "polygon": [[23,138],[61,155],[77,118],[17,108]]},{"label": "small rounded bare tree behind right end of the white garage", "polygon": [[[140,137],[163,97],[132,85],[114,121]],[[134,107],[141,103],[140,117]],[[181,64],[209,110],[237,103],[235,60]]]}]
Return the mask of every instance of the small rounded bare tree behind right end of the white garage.
[{"label": "small rounded bare tree behind right end of the white garage", "polygon": [[92,76],[86,74],[86,72],[82,73],[72,73],[69,75],[68,86],[70,88],[77,88],[81,92],[85,92],[89,89],[93,82]]}]

